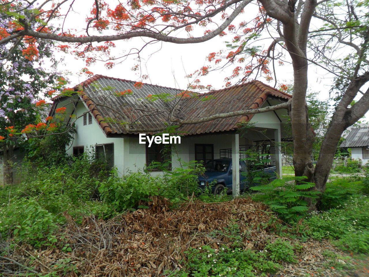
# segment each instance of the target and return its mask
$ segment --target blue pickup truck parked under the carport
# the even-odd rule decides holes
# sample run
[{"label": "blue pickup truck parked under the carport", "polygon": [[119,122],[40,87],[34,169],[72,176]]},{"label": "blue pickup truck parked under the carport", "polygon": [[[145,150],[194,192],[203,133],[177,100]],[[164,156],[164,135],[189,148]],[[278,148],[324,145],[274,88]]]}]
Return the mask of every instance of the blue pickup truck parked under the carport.
[{"label": "blue pickup truck parked under the carport", "polygon": [[[200,175],[198,178],[201,189],[211,185],[211,192],[215,195],[223,192],[224,188],[227,188],[227,193],[232,192],[232,159],[221,158],[210,160],[204,167],[206,170],[204,175]],[[248,168],[246,167],[245,161],[239,161],[239,189],[241,191],[258,185],[246,178],[247,170]],[[264,168],[254,171],[263,171],[263,175],[266,176],[269,181],[272,181],[276,179],[275,170],[275,166],[265,166]]]}]

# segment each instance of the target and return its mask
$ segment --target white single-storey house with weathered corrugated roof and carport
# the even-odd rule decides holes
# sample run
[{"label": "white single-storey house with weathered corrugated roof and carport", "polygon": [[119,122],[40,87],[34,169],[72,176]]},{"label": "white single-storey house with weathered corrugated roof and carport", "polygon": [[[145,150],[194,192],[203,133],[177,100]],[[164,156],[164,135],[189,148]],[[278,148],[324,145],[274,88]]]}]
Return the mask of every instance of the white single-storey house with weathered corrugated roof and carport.
[{"label": "white single-storey house with weathered corrugated roof and carport", "polygon": [[[199,119],[217,113],[273,106],[292,97],[259,81],[199,93],[195,98],[186,97],[180,89],[146,83],[137,88],[140,85],[134,81],[95,75],[77,85],[74,95],[57,96],[50,115],[55,116],[56,109],[66,107],[66,119],[70,121],[74,115],[77,117],[76,134],[68,153],[79,155],[95,150],[123,175],[129,170],[143,168],[151,161],[162,160],[163,144],[153,143],[151,147],[139,144],[139,133],[150,135],[153,129],[170,125],[168,117],[171,113],[182,119]],[[121,92],[128,96],[116,96]],[[159,99],[163,93],[174,100],[166,102],[166,99]],[[151,101],[148,96],[157,100]],[[177,129],[177,134],[183,136],[181,144],[176,144],[175,148],[172,146],[171,167],[193,160],[227,157],[231,155],[232,148],[253,148],[275,154],[272,163],[281,175],[281,154],[278,148],[276,151],[272,148],[274,143],[280,143],[286,114],[287,111],[282,109],[183,125]],[[237,130],[241,122],[254,123],[254,127],[239,135]],[[148,131],[132,133],[125,128],[128,125]]]}]

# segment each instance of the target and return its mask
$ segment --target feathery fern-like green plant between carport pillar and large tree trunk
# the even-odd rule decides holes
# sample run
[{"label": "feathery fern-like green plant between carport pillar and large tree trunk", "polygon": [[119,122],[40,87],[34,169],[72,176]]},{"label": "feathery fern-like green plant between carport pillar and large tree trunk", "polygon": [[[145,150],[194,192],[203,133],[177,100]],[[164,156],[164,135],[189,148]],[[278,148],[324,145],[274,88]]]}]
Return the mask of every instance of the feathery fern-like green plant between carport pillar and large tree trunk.
[{"label": "feathery fern-like green plant between carport pillar and large tree trunk", "polygon": [[294,181],[286,182],[283,179],[276,179],[268,185],[252,187],[254,191],[259,191],[252,198],[256,201],[262,201],[270,206],[280,218],[287,221],[296,221],[306,214],[307,202],[303,199],[317,198],[317,191],[308,191],[315,186],[314,183],[304,182],[306,177],[293,177]]}]

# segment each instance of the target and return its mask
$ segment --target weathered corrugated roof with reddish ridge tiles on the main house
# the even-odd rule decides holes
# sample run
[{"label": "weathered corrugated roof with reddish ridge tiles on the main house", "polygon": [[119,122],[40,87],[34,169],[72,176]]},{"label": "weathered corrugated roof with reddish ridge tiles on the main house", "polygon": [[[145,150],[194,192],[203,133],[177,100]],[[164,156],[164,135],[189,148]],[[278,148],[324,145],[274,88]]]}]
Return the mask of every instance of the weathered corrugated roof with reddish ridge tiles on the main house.
[{"label": "weathered corrugated roof with reddish ridge tiles on the main house", "polygon": [[[171,125],[168,120],[172,107],[176,117],[181,119],[196,119],[211,116],[216,113],[227,113],[237,110],[255,109],[261,107],[263,102],[272,95],[284,100],[292,96],[259,81],[252,81],[230,88],[220,89],[207,93],[199,93],[196,98],[180,98],[166,102],[155,100],[150,102],[148,95],[168,93],[177,96],[183,90],[144,83],[141,88],[135,88],[135,81],[95,75],[80,83],[85,93],[81,96],[87,106],[92,110],[106,134],[127,134],[121,123],[128,123],[131,127],[142,130],[155,129]],[[79,88],[76,86],[75,89]],[[132,95],[125,97],[114,96],[116,91],[132,90]],[[214,96],[208,97],[208,96]],[[206,101],[201,99],[211,98]],[[55,98],[57,99],[57,98]],[[96,106],[95,106],[96,105]],[[216,119],[211,122],[184,125],[178,131],[184,135],[229,131],[237,129],[237,123],[247,122],[253,115],[234,116],[225,119]],[[117,122],[110,122],[108,118]]]}]

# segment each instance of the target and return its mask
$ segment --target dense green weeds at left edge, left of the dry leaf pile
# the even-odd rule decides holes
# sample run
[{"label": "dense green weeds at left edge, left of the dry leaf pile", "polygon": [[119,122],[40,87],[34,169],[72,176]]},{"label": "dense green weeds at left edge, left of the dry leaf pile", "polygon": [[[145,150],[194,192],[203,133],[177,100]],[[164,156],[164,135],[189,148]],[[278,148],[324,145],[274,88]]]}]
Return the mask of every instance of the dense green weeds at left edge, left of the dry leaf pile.
[{"label": "dense green weeds at left edge, left of the dry leaf pile", "polygon": [[53,233],[67,212],[78,221],[94,213],[110,216],[113,209],[96,199],[103,174],[94,172],[98,161],[88,157],[71,164],[34,168],[24,167],[25,180],[0,189],[0,234],[35,246],[56,242]]}]

